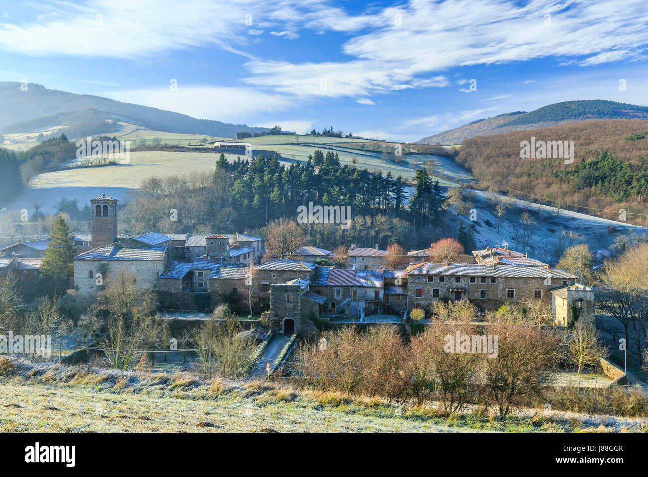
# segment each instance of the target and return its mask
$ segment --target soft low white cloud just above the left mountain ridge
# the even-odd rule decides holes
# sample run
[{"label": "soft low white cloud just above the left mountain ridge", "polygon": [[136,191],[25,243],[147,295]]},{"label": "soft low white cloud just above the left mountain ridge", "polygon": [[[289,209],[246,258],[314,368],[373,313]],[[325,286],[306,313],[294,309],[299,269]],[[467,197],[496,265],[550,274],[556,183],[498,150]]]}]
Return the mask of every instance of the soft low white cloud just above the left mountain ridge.
[{"label": "soft low white cloud just above the left mountain ridge", "polygon": [[[288,98],[262,93],[251,88],[214,86],[183,86],[178,90],[154,88],[104,92],[101,96],[126,103],[188,114],[199,119],[249,123],[249,118],[266,112],[286,110],[292,105]],[[250,124],[254,125],[254,124]]]}]

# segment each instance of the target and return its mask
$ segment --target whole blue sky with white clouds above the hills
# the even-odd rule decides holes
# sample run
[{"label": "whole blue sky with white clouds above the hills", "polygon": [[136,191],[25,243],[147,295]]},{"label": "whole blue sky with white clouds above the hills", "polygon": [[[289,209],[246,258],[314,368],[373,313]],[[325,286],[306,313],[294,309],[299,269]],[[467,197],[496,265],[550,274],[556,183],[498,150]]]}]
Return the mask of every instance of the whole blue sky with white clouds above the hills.
[{"label": "whole blue sky with white clouds above the hills", "polygon": [[647,19],[645,0],[0,1],[0,80],[411,141],[571,99],[648,105]]}]

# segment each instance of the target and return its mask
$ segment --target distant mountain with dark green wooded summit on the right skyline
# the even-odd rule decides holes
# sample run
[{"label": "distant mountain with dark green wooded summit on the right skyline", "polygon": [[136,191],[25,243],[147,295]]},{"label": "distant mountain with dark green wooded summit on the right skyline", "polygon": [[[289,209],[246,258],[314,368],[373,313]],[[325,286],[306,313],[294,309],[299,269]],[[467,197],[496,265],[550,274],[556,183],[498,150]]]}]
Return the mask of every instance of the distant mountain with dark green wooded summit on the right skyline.
[{"label": "distant mountain with dark green wooded summit on the right skyline", "polygon": [[517,111],[479,119],[417,141],[420,144],[461,144],[474,136],[491,136],[513,130],[553,127],[593,119],[648,119],[648,107],[594,99],[548,104],[531,112]]}]

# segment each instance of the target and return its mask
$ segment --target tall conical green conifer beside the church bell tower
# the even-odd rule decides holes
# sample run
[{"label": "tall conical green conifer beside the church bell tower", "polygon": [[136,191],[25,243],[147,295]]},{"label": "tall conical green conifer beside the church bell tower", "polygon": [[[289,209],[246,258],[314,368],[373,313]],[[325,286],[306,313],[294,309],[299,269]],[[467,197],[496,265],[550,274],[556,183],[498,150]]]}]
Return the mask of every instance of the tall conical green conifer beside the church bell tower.
[{"label": "tall conical green conifer beside the church bell tower", "polygon": [[43,293],[62,295],[74,273],[72,260],[76,253],[69,226],[61,215],[52,223],[49,236],[51,241],[40,271],[40,289]]}]

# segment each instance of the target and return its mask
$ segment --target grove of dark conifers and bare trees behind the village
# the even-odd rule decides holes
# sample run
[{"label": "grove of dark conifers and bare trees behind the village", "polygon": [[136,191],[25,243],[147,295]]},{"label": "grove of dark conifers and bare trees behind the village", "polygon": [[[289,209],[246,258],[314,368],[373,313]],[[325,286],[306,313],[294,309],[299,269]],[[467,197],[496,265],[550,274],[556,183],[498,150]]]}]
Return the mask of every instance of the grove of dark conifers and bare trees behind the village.
[{"label": "grove of dark conifers and bare trees behind the village", "polygon": [[[145,180],[141,194],[121,213],[121,227],[126,233],[154,228],[176,233],[247,230],[263,235],[268,223],[295,220],[297,207],[312,201],[349,205],[353,214],[349,228],[339,223],[304,224],[305,234],[318,247],[332,250],[351,243],[386,247],[396,242],[407,249],[422,248],[448,236],[450,222],[443,215],[445,197],[438,182],[425,169],[419,169],[415,182],[407,210],[406,184],[401,177],[341,165],[332,151],[318,150],[305,164],[287,167],[276,156],[230,163],[221,156],[213,176]],[[168,219],[171,208],[178,210],[176,222]],[[469,239],[469,232],[460,231],[457,239]]]}]

